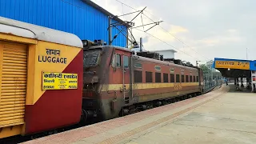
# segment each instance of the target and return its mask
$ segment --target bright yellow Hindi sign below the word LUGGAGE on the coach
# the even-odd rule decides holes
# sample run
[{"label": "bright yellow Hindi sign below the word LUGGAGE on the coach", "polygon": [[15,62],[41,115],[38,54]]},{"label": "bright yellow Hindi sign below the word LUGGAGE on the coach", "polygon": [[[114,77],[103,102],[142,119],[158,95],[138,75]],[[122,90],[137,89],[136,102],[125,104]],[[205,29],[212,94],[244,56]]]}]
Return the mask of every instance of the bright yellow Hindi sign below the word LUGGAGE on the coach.
[{"label": "bright yellow Hindi sign below the word LUGGAGE on the coach", "polygon": [[42,90],[78,89],[78,74],[42,72]]}]

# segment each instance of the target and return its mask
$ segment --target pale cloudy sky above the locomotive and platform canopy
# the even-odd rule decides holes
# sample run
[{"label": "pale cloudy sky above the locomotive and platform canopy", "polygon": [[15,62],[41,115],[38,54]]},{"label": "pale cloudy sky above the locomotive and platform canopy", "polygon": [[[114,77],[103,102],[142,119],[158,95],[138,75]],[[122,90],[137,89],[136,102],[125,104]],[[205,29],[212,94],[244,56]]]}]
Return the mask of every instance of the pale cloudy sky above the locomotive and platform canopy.
[{"label": "pale cloudy sky above the locomotive and platform canopy", "polygon": [[[143,46],[146,50],[173,49],[178,51],[175,58],[195,64],[196,60],[204,62],[214,58],[246,59],[246,48],[248,48],[248,59],[254,60],[254,51],[256,50],[255,0],[119,1],[136,10],[142,10],[146,6],[144,14],[155,22],[164,21],[160,23],[160,26],[170,34],[159,26],[149,30],[148,33],[174,47],[146,33],[133,30],[137,41],[140,37],[143,38]],[[93,0],[93,2],[115,15],[135,11],[116,0]],[[134,15],[121,18],[130,21]],[[142,19],[144,24],[152,22],[144,15],[142,15]],[[142,25],[141,16],[134,22],[135,26]]]}]

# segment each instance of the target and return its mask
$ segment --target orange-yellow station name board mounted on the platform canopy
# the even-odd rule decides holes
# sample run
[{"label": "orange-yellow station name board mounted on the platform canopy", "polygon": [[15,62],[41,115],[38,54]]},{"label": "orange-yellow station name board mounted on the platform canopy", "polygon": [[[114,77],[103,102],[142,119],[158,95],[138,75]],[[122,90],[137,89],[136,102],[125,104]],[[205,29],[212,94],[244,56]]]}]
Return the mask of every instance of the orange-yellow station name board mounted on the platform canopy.
[{"label": "orange-yellow station name board mounted on the platform canopy", "polygon": [[250,62],[215,61],[215,68],[250,70]]}]

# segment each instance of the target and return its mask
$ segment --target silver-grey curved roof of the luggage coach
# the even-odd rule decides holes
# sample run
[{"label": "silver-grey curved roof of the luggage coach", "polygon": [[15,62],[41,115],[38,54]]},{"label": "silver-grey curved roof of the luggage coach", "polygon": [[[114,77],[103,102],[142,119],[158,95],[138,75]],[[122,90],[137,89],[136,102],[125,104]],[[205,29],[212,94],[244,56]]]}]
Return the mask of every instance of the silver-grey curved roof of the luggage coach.
[{"label": "silver-grey curved roof of the luggage coach", "polygon": [[0,17],[0,33],[14,34],[25,38],[34,38],[67,46],[83,47],[81,39],[74,34],[36,26],[10,18]]}]

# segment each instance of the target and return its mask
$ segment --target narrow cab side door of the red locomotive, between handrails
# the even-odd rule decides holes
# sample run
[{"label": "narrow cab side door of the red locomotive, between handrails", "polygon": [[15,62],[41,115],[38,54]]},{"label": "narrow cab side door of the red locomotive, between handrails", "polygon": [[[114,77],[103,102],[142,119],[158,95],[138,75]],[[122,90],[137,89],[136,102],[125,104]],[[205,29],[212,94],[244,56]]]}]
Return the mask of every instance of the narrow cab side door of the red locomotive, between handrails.
[{"label": "narrow cab side door of the red locomotive, between handrails", "polygon": [[131,53],[125,52],[122,55],[122,86],[123,98],[126,105],[129,105],[132,99],[131,71]]}]

